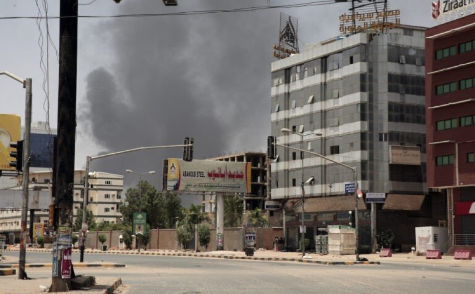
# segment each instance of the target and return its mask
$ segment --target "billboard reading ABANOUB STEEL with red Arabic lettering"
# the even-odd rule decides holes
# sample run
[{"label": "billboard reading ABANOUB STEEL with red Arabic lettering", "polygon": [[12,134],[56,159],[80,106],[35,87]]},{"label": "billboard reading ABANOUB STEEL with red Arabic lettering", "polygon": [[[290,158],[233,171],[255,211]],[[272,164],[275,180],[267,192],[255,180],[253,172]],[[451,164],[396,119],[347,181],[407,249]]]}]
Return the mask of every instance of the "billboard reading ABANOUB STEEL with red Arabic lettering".
[{"label": "billboard reading ABANOUB STEEL with red Arabic lettering", "polygon": [[[251,163],[168,158],[166,190],[182,192],[251,192]],[[164,187],[165,188],[165,187]]]}]

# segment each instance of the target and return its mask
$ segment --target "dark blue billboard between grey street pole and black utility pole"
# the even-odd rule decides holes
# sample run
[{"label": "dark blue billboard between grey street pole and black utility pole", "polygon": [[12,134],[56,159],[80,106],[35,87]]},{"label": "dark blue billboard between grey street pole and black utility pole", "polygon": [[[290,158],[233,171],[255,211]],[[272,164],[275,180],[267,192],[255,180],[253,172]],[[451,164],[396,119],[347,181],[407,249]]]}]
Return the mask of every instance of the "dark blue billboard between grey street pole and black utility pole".
[{"label": "dark blue billboard between grey street pole and black utility pole", "polygon": [[53,167],[53,142],[55,135],[30,134],[30,167],[52,168]]}]

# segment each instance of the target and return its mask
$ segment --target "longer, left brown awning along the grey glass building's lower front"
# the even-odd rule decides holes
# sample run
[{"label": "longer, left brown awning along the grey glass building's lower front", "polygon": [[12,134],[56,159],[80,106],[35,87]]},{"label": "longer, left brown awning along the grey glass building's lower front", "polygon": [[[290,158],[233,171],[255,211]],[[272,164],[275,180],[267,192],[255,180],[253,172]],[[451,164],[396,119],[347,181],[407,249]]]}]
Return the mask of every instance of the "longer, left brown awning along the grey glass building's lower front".
[{"label": "longer, left brown awning along the grey glass building's lower front", "polygon": [[[300,199],[288,199],[284,204],[285,211],[302,212]],[[305,212],[349,211],[355,209],[355,196],[329,196],[305,199]],[[358,209],[365,210],[366,204],[358,198]]]}]

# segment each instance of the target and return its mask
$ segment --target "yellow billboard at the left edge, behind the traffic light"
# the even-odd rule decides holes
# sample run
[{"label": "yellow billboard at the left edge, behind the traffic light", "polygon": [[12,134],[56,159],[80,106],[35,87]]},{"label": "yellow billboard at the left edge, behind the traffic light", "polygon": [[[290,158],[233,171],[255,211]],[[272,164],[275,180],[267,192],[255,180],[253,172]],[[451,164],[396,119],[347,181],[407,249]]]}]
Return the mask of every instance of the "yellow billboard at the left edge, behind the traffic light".
[{"label": "yellow billboard at the left edge, behind the traffic light", "polygon": [[10,167],[10,161],[15,159],[10,157],[10,142],[21,140],[20,136],[20,116],[16,114],[0,114],[0,170],[15,171],[15,167]]}]

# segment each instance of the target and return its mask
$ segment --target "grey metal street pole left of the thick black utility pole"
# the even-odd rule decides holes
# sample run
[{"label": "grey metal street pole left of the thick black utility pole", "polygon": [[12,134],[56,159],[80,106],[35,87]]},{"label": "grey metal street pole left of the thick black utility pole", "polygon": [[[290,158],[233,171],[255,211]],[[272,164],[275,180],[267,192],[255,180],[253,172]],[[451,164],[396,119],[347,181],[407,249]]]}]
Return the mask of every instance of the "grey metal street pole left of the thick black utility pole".
[{"label": "grey metal street pole left of the thick black utility pole", "polygon": [[31,133],[31,78],[27,78],[24,81],[24,87],[26,88],[26,98],[25,98],[25,134],[24,134],[24,144],[23,144],[23,203],[22,203],[22,231],[20,236],[20,261],[18,268],[18,278],[23,280],[26,278],[25,272],[25,260],[26,260],[26,243],[28,241],[26,233],[26,222],[28,214],[28,183],[29,183],[29,163],[28,159],[30,157],[30,133]]}]

